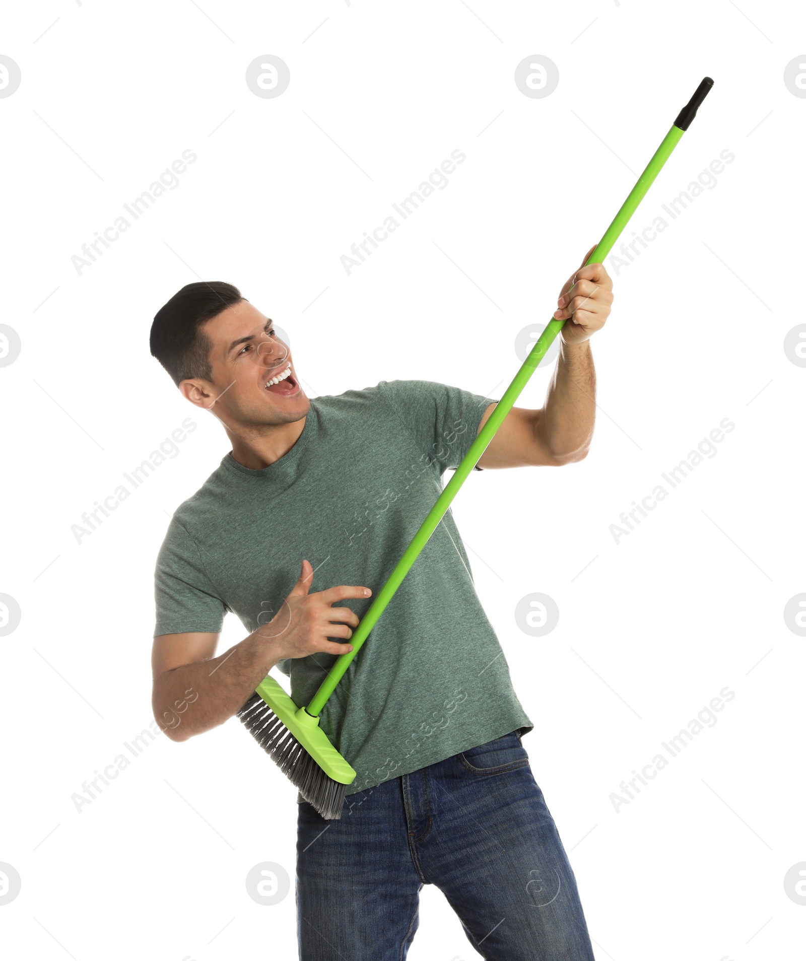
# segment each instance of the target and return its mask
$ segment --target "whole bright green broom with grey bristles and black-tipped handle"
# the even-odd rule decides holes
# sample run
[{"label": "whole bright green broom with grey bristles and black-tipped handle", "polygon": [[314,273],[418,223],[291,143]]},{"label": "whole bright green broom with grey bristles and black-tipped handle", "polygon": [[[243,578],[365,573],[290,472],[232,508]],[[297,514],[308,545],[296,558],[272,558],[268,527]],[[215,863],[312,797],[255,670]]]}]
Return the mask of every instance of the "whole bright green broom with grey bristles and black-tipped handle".
[{"label": "whole bright green broom with grey bristles and black-tipped handle", "polygon": [[[712,86],[714,81],[706,77],[696,88],[694,96],[677,115],[672,129],[649,160],[647,169],[639,177],[638,183],[632,188],[622,209],[616,214],[613,223],[607,228],[587,263],[601,263],[610,252],[664,163],[669,160],[680,137],[683,136],[684,131],[688,130],[696,116],[697,108]],[[501,422],[514,406],[526,382],[546,355],[554,337],[562,330],[564,323],[564,320],[552,318],[546,330],[541,333],[523,366],[515,375],[515,379],[507,387],[501,401],[478,432],[470,450],[446,484],[436,504],[431,507],[420,530],[412,538],[394,571],[389,575],[389,579],[358,627],[355,628],[350,639],[353,650],[339,655],[330,668],[328,677],[322,681],[319,690],[313,696],[313,700],[306,707],[298,707],[274,678],[267,677],[260,682],[255,694],[237,712],[244,725],[255,735],[260,746],[296,785],[305,801],[312,804],[323,818],[332,820],[341,817],[347,786],[354,781],[355,772],[330,744],[327,734],[319,727],[319,714],[336,684],[344,676],[355,654],[367,639],[369,632],[377,624],[383,609],[392,600],[418,554],[426,546],[428,538],[436,530],[459,488],[476,466],[476,462],[493,439],[493,435],[501,427]]]}]

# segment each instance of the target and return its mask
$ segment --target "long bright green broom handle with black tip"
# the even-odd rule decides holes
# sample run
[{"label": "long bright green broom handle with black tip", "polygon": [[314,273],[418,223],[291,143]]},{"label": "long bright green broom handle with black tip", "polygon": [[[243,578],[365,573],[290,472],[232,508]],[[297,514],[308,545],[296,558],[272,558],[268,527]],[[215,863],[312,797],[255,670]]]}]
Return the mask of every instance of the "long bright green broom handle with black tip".
[{"label": "long bright green broom handle with black tip", "polygon": [[[660,173],[664,163],[669,160],[670,156],[672,155],[672,150],[677,146],[677,142],[679,141],[680,137],[683,136],[684,131],[688,130],[689,124],[696,116],[697,108],[705,99],[705,96],[712,86],[714,86],[714,81],[711,80],[710,77],[706,77],[696,88],[692,99],[677,115],[677,118],[672,125],[672,129],[664,137],[663,143],[661,143],[661,145],[655,151],[654,157],[647,163],[647,169],[639,177],[638,183],[632,188],[629,196],[623,202],[622,209],[619,210],[613,220],[613,223],[607,228],[604,236],[598,243],[597,249],[588,259],[588,263],[601,263],[601,261],[610,253],[611,248],[619,239],[620,234],[626,227],[630,217],[633,215],[633,213],[635,213],[638,205],[644,199],[644,195],[647,193],[647,190],[652,185],[654,179]],[[487,445],[493,439],[496,431],[498,431],[498,429],[501,427],[504,417],[506,417],[510,409],[518,400],[518,396],[524,389],[526,382],[528,382],[529,378],[534,373],[535,368],[546,355],[546,352],[551,346],[551,342],[562,330],[564,323],[564,320],[554,320],[552,318],[546,327],[546,330],[540,334],[537,343],[531,349],[529,356],[526,357],[523,366],[515,375],[515,379],[506,388],[506,391],[503,397],[501,397],[498,405],[487,419],[484,427],[478,432],[476,440],[471,445],[470,450],[462,458],[462,461],[456,468],[451,480],[449,480],[445,485],[445,489],[440,494],[436,504],[431,507],[426,520],[423,521],[423,524],[420,526],[420,530],[418,530],[412,538],[411,543],[408,545],[405,553],[398,561],[394,571],[392,571],[392,573],[389,575],[389,579],[387,579],[386,583],[380,589],[378,596],[370,605],[369,610],[367,610],[366,614],[364,614],[361,623],[357,628],[355,628],[353,636],[350,639],[350,643],[353,645],[353,650],[350,653],[341,654],[338,657],[333,666],[330,668],[328,677],[322,682],[319,690],[314,695],[312,701],[308,704],[306,708],[308,714],[316,717],[325,706],[325,702],[327,702],[328,698],[332,694],[336,684],[338,684],[339,680],[341,680],[344,673],[347,671],[355,654],[358,653],[361,645],[367,639],[369,632],[375,627],[381,613],[383,612],[383,609],[387,604],[389,604],[395,592],[403,583],[403,578],[405,578],[406,574],[408,574],[412,564],[417,559],[418,554],[420,554],[420,552],[426,546],[428,538],[431,536],[434,530],[436,530],[437,525],[442,520],[448,508],[451,506],[451,502],[458,493],[459,488],[476,466],[476,462],[484,453]]]}]

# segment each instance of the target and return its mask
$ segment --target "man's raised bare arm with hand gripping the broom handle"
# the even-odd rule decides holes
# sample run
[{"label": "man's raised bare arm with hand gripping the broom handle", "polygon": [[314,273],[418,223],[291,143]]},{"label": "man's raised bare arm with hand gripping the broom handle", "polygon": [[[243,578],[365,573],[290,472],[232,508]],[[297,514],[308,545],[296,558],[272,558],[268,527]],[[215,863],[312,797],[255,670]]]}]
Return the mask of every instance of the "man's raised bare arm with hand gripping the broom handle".
[{"label": "man's raised bare arm with hand gripping the broom handle", "polygon": [[[590,337],[604,326],[613,283],[600,263],[584,266],[563,284],[554,317],[566,320],[546,403],[513,407],[478,461],[479,467],[560,467],[588,454],[596,420],[596,371]],[[479,431],[495,409],[484,411]]]}]

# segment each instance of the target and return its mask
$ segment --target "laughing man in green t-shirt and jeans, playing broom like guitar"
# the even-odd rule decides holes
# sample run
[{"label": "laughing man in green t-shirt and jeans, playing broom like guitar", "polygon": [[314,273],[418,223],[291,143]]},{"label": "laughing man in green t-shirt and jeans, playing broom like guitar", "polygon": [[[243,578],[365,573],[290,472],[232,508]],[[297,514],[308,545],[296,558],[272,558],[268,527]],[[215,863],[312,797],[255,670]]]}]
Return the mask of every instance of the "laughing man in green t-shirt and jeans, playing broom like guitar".
[{"label": "laughing man in green t-shirt and jeans, playing broom like guitar", "polygon": [[[554,316],[568,322],[545,406],[514,407],[479,468],[586,456],[589,338],[611,291],[601,264],[563,285]],[[495,402],[425,381],[308,400],[272,321],[229,283],[183,287],[156,315],[151,351],[232,444],[174,514],[157,563],[154,712],[183,741],[231,718],[275,666],[293,700],[308,702],[352,650],[370,595]],[[228,611],[249,634],[216,656]],[[177,702],[178,725],[169,720]],[[450,512],[320,725],[357,776],[339,820],[298,797],[304,961],[399,961],[427,883],[485,958],[593,959],[574,874],[521,743],[533,725]]]}]

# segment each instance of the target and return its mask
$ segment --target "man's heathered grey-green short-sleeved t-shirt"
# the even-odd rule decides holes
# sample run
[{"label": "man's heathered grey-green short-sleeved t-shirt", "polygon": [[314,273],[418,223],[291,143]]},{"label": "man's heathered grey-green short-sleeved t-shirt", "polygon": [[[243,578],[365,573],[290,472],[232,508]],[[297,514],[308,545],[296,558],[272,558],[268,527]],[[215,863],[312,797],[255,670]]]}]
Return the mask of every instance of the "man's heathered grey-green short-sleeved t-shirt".
[{"label": "man's heathered grey-green short-sleeved t-shirt", "polygon": [[[304,558],[311,591],[361,584],[377,596],[490,403],[442,383],[381,381],[311,400],[297,443],[262,470],[229,453],[168,528],[155,636],[217,633],[228,611],[252,632],[278,613]],[[344,604],[360,617],[373,598]],[[294,702],[310,701],[335,659],[281,661]],[[348,794],[532,729],[450,510],[320,725],[357,773]]]}]

